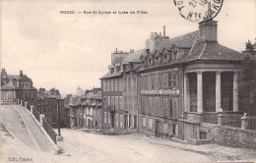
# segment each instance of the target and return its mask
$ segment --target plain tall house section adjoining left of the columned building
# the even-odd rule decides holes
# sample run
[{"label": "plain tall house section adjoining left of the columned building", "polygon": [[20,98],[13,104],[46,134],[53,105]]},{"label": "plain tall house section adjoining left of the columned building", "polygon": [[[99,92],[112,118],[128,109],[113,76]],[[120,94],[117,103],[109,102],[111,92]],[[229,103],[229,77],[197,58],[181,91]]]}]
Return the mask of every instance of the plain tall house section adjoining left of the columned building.
[{"label": "plain tall house section adjoining left of the columned building", "polygon": [[101,80],[103,127],[115,130],[138,129],[138,73],[145,49],[111,54],[108,73]]}]

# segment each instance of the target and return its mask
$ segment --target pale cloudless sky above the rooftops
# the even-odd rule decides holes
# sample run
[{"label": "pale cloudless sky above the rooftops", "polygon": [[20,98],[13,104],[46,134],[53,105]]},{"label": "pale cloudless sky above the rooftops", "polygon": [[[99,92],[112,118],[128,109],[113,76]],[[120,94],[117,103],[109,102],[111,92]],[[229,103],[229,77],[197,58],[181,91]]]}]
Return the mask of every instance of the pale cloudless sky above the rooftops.
[{"label": "pale cloudless sky above the rooftops", "polygon": [[[2,0],[0,4],[1,68],[9,75],[23,70],[36,88],[55,87],[61,94],[74,94],[78,86],[99,87],[115,48],[145,48],[151,32],[162,32],[163,26],[169,37],[198,29],[197,23],[180,17],[173,0]],[[256,0],[224,0],[215,21],[219,43],[244,50],[245,41],[256,38]]]}]

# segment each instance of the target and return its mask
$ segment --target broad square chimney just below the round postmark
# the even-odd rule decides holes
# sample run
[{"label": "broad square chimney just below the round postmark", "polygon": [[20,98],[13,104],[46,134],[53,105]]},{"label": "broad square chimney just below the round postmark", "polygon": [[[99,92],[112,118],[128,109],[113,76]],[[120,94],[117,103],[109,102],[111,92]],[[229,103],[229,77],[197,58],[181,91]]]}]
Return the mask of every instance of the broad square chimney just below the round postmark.
[{"label": "broad square chimney just below the round postmark", "polygon": [[217,21],[207,21],[199,23],[199,36],[201,42],[218,42]]}]

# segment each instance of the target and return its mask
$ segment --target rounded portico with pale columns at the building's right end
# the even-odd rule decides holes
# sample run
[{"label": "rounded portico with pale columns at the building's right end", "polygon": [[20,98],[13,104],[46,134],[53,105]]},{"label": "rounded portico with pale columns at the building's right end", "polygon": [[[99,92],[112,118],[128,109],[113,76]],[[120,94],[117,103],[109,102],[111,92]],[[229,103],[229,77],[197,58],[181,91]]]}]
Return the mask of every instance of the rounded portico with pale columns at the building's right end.
[{"label": "rounded portico with pale columns at the building's right end", "polygon": [[239,71],[239,68],[185,71],[184,111],[196,113],[237,112]]}]

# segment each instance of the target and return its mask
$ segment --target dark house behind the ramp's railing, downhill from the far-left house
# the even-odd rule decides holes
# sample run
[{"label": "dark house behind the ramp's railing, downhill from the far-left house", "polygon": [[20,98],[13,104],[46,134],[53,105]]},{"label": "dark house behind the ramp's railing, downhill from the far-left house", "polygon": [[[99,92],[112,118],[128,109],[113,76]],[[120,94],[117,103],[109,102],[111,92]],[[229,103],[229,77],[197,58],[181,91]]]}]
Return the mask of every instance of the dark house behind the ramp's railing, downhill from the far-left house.
[{"label": "dark house behind the ramp's railing, downhill from the far-left house", "polygon": [[59,90],[51,88],[39,88],[37,92],[36,109],[43,114],[48,123],[53,127],[58,127],[58,108],[60,109],[60,127],[69,126],[69,109],[64,107],[65,98],[61,97]]}]

